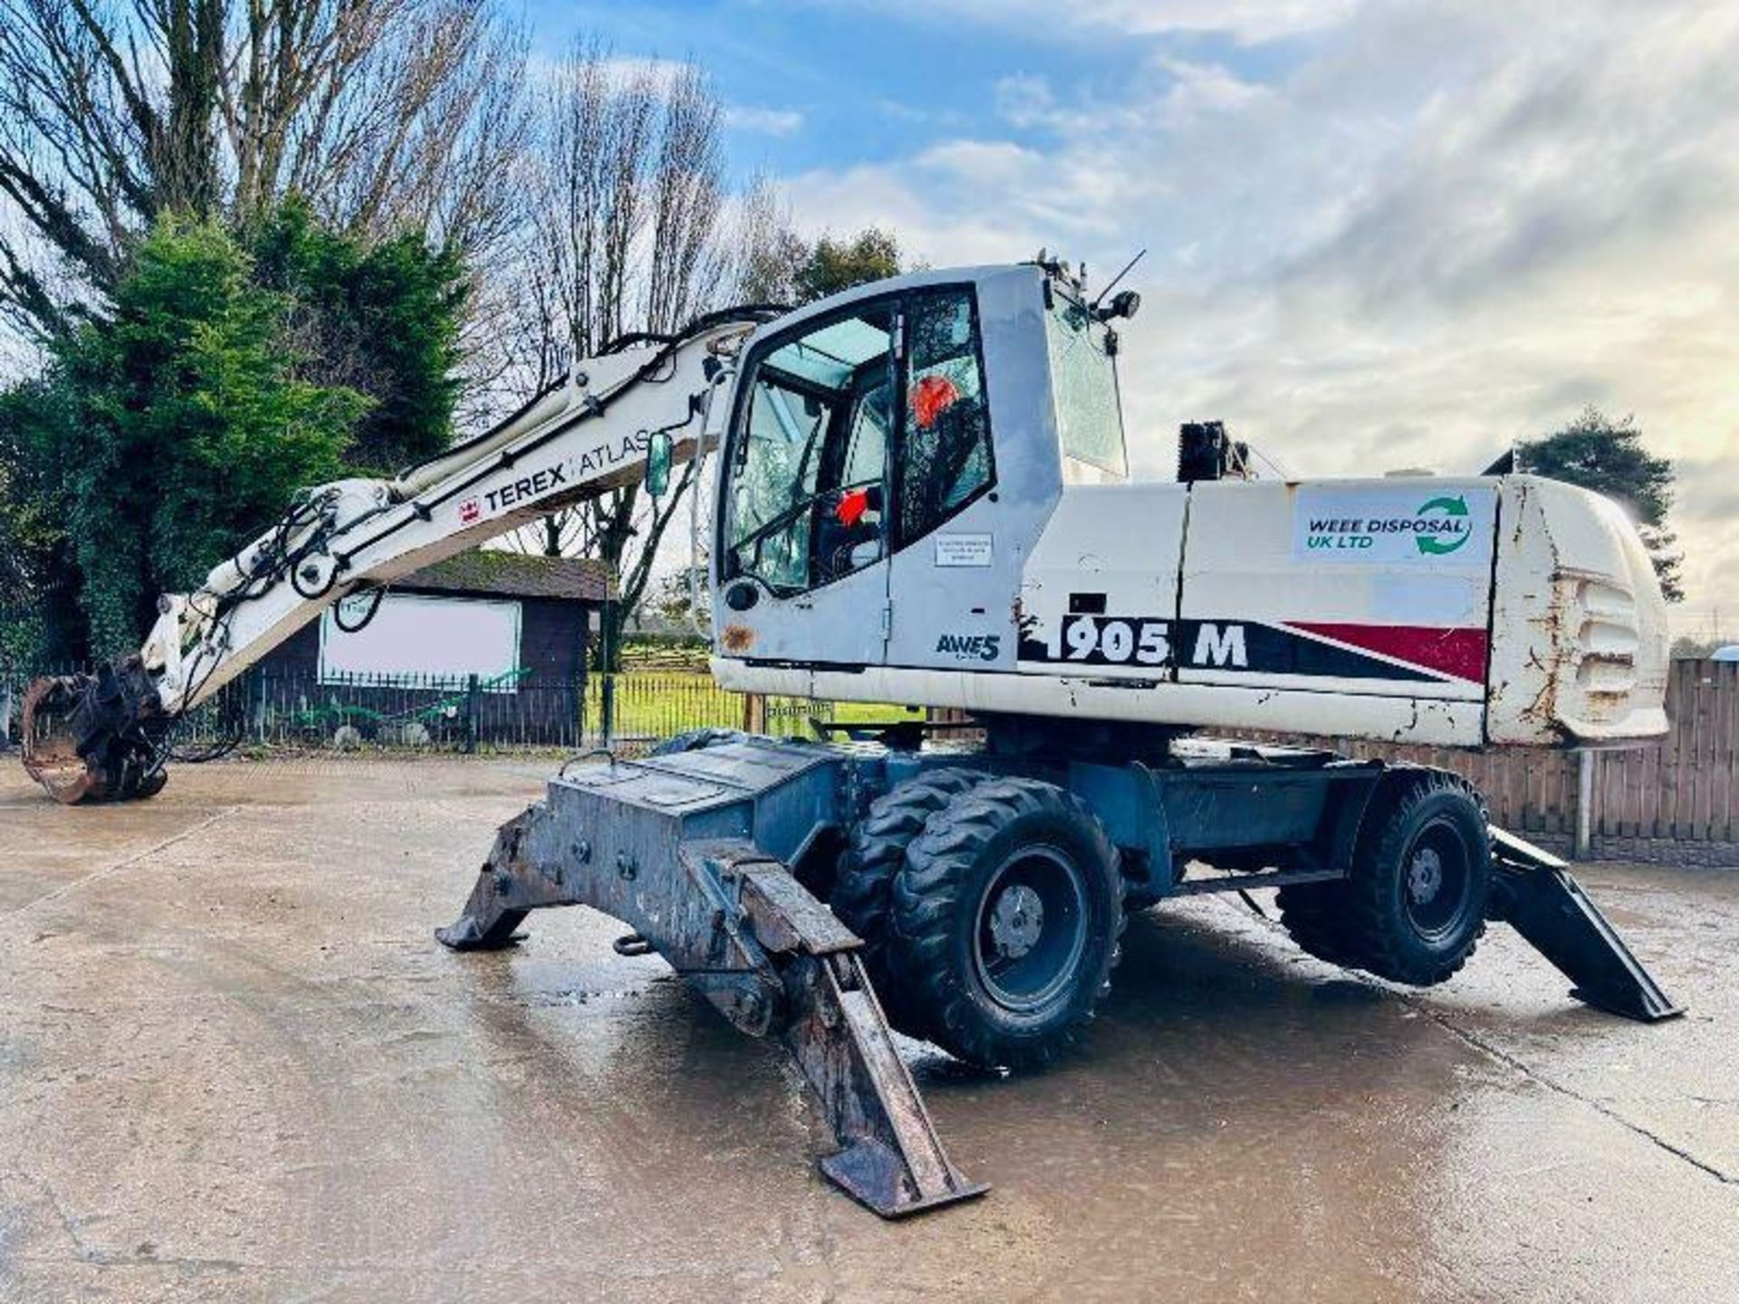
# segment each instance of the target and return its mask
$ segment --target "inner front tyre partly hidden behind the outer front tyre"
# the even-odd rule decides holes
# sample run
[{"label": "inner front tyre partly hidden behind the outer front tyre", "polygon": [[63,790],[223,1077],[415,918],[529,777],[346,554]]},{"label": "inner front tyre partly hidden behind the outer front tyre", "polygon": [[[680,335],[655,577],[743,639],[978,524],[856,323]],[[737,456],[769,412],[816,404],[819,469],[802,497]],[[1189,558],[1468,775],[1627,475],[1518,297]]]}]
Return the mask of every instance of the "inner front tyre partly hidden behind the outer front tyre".
[{"label": "inner front tyre partly hidden behind the outer front tyre", "polygon": [[929,770],[871,802],[868,814],[852,828],[828,897],[840,921],[864,939],[863,961],[882,1000],[882,1012],[894,1028],[911,1036],[929,1033],[904,975],[889,963],[894,876],[906,862],[913,838],[923,833],[923,822],[949,798],[983,781],[979,770]]}]

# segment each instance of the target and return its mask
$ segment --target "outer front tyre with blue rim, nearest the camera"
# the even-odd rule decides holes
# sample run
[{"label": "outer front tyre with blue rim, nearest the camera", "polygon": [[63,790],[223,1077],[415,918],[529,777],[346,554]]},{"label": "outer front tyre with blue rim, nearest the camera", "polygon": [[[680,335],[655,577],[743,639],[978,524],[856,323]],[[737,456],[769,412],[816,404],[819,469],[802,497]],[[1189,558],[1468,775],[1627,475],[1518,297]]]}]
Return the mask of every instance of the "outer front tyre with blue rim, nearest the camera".
[{"label": "outer front tyre with blue rim, nearest the camera", "polygon": [[969,1064],[1031,1069],[1063,1054],[1109,991],[1122,932],[1104,828],[1036,779],[955,796],[894,880],[892,960],[930,1040]]}]

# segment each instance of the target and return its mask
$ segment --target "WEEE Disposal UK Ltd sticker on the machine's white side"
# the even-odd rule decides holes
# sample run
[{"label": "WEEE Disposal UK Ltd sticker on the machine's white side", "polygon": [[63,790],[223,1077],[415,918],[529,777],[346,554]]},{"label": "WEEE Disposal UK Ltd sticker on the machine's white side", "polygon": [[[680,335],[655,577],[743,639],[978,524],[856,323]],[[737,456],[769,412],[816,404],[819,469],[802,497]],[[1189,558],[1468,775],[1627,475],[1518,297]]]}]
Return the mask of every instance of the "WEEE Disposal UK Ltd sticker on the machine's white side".
[{"label": "WEEE Disposal UK Ltd sticker on the machine's white side", "polygon": [[1292,556],[1303,562],[1490,567],[1497,490],[1431,480],[1393,485],[1301,485]]}]

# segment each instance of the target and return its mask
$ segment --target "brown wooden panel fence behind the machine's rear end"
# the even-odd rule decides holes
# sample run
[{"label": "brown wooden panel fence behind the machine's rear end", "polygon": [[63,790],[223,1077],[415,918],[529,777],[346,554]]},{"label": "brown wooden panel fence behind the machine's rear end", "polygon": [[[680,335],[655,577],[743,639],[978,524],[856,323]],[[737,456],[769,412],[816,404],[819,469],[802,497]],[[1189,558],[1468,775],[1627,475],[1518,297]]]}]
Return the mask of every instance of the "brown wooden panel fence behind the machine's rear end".
[{"label": "brown wooden panel fence behind the machine's rear end", "polygon": [[[1739,864],[1739,662],[1675,661],[1666,713],[1673,732],[1664,744],[1588,753],[1588,850],[1610,859]],[[1466,775],[1485,793],[1494,824],[1553,850],[1574,847],[1581,753],[1330,742],[1356,756]]]}]

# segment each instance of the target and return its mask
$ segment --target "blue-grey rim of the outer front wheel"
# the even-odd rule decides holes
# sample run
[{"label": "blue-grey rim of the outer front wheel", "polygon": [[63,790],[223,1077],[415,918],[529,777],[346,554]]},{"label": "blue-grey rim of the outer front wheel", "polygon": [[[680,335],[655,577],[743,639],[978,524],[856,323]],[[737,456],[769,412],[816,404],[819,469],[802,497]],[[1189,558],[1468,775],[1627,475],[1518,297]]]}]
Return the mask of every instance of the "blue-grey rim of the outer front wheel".
[{"label": "blue-grey rim of the outer front wheel", "polygon": [[1014,1014],[1064,998],[1087,949],[1087,892],[1054,847],[1023,847],[979,897],[972,965],[986,995]]}]

